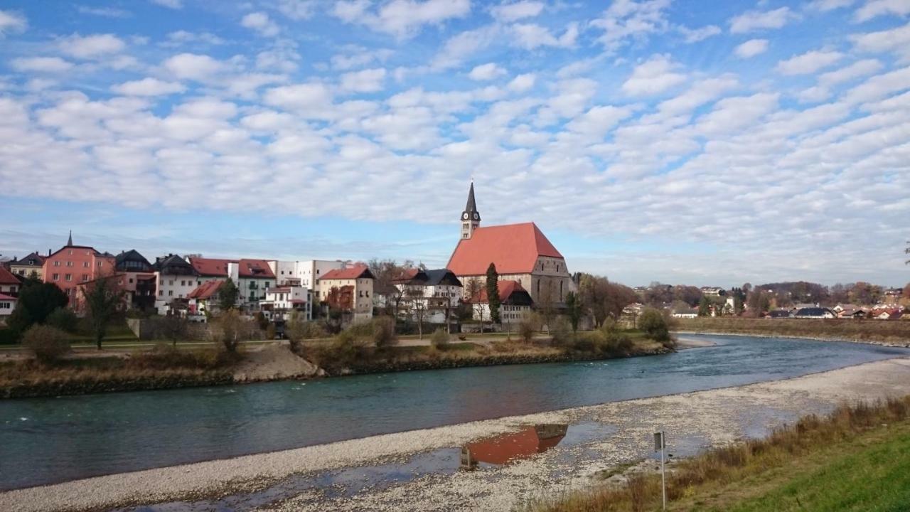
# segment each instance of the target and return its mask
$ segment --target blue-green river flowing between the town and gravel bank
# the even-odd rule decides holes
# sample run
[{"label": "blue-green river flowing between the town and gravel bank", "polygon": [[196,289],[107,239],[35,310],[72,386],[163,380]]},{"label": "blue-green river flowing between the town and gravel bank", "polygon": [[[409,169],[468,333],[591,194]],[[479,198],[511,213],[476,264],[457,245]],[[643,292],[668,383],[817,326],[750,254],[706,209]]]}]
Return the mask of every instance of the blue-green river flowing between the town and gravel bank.
[{"label": "blue-green river flowing between the town and gravel bank", "polygon": [[0,490],[752,384],[910,353],[858,343],[700,337],[717,344],[602,362],[0,401]]}]

